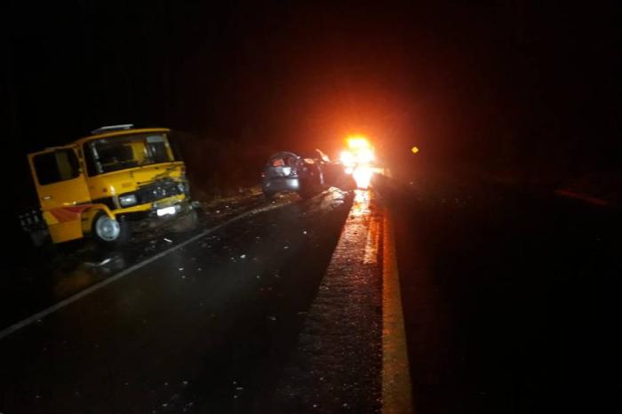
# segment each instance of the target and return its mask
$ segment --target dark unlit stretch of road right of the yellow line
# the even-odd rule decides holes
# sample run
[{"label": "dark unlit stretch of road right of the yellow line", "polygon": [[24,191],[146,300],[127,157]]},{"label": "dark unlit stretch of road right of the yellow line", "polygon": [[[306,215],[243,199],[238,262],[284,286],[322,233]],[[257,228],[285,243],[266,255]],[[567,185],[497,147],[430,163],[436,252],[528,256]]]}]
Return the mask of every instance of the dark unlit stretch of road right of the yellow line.
[{"label": "dark unlit stretch of road right of the yellow line", "polygon": [[622,412],[618,208],[476,180],[380,181],[417,412]]}]

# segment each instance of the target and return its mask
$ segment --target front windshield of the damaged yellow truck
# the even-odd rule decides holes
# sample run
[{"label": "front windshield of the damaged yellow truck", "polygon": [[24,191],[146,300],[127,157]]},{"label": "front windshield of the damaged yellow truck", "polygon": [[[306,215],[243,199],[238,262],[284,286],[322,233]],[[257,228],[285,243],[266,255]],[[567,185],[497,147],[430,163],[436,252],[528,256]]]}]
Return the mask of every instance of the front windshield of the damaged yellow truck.
[{"label": "front windshield of the damaged yellow truck", "polygon": [[94,139],[84,145],[90,176],[175,161],[165,133],[138,133]]}]

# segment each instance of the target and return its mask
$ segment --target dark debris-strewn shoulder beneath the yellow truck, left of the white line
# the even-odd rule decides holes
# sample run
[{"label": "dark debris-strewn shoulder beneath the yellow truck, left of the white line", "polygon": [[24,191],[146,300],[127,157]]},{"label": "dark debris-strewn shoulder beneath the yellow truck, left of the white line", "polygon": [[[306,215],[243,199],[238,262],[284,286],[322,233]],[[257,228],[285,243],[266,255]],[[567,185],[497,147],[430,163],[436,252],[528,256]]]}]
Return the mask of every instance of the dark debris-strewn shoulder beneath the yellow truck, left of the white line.
[{"label": "dark debris-strewn shoulder beneath the yellow truck, left of the white line", "polygon": [[[291,196],[275,201],[275,206],[291,203]],[[0,326],[20,321],[45,307],[84,291],[144,259],[170,249],[205,228],[218,226],[245,211],[266,208],[257,191],[204,204],[198,226],[182,219],[149,232],[132,236],[122,251],[101,249],[88,239],[34,249],[16,245],[6,260],[0,279]]]}]

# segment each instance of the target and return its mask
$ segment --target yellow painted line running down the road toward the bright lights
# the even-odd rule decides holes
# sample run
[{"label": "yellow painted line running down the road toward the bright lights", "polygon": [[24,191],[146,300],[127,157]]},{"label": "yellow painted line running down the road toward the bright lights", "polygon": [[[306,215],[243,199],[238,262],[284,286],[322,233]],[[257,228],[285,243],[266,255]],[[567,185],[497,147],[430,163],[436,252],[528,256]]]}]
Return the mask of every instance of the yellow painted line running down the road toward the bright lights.
[{"label": "yellow painted line running down the road toward the bright lights", "polygon": [[414,412],[393,216],[385,210],[382,255],[382,412]]}]

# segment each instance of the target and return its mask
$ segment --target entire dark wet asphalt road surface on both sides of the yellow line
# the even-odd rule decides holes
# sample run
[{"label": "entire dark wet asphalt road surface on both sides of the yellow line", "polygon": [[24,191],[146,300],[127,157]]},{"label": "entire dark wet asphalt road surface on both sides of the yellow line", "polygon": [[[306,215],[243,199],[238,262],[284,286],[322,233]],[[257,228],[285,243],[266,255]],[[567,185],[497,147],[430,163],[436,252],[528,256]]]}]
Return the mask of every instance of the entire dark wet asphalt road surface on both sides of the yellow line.
[{"label": "entire dark wet asphalt road surface on both sides of the yellow line", "polygon": [[416,412],[622,411],[618,208],[465,179],[374,186],[249,195],[125,251],[16,259],[4,330],[140,267],[0,338],[0,412],[379,412],[385,208]]}]

